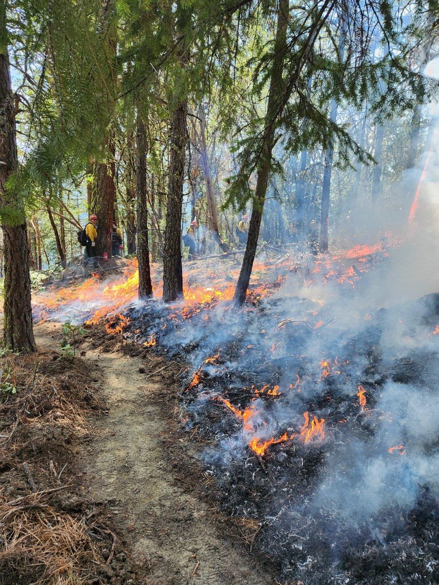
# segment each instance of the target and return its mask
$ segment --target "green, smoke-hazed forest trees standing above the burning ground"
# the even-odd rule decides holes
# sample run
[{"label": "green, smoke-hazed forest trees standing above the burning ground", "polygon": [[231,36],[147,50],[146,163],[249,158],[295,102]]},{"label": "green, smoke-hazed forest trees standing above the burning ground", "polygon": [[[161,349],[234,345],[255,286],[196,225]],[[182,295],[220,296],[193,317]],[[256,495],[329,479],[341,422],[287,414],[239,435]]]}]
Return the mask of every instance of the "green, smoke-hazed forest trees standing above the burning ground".
[{"label": "green, smoke-hazed forest trees standing above the burning ground", "polygon": [[[151,294],[183,292],[181,234],[318,251],[408,218],[434,120],[437,2],[9,1],[0,8],[5,342],[35,348],[30,274],[62,273],[98,216]],[[18,150],[17,150],[18,149]],[[315,228],[310,228],[311,222]],[[34,283],[34,284],[35,284]]]}]

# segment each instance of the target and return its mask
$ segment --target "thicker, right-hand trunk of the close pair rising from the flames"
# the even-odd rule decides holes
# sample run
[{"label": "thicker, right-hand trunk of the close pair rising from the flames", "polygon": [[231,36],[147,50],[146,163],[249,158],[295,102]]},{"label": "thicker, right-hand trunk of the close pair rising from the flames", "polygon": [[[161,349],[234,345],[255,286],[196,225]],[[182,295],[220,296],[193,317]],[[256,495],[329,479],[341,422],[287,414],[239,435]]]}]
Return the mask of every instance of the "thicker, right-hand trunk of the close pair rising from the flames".
[{"label": "thicker, right-hand trunk of the close pair rising from the flames", "polygon": [[186,158],[187,99],[174,110],[170,128],[169,191],[163,247],[163,301],[183,297],[181,267],[181,206]]}]

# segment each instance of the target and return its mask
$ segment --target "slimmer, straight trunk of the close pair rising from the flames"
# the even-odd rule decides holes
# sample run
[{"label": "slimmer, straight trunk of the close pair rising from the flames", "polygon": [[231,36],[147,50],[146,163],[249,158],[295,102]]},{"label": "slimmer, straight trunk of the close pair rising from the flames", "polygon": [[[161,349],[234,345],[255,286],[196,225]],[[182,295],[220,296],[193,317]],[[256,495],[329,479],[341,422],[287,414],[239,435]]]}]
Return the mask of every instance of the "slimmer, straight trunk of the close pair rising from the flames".
[{"label": "slimmer, straight trunk of the close pair rising from the flames", "polygon": [[152,297],[148,243],[148,195],[146,192],[145,124],[137,123],[137,259],[139,262],[139,298]]}]

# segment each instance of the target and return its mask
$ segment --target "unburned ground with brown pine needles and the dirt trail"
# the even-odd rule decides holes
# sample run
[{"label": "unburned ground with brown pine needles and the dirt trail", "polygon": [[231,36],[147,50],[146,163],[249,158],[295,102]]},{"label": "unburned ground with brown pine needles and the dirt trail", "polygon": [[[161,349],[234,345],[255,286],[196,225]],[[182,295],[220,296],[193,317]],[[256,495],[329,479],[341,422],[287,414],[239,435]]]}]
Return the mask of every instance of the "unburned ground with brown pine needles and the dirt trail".
[{"label": "unburned ground with brown pine needles and the dirt trail", "polygon": [[100,328],[67,359],[59,332],[38,324],[37,356],[5,358],[0,583],[274,583],[201,494],[179,367]]}]

